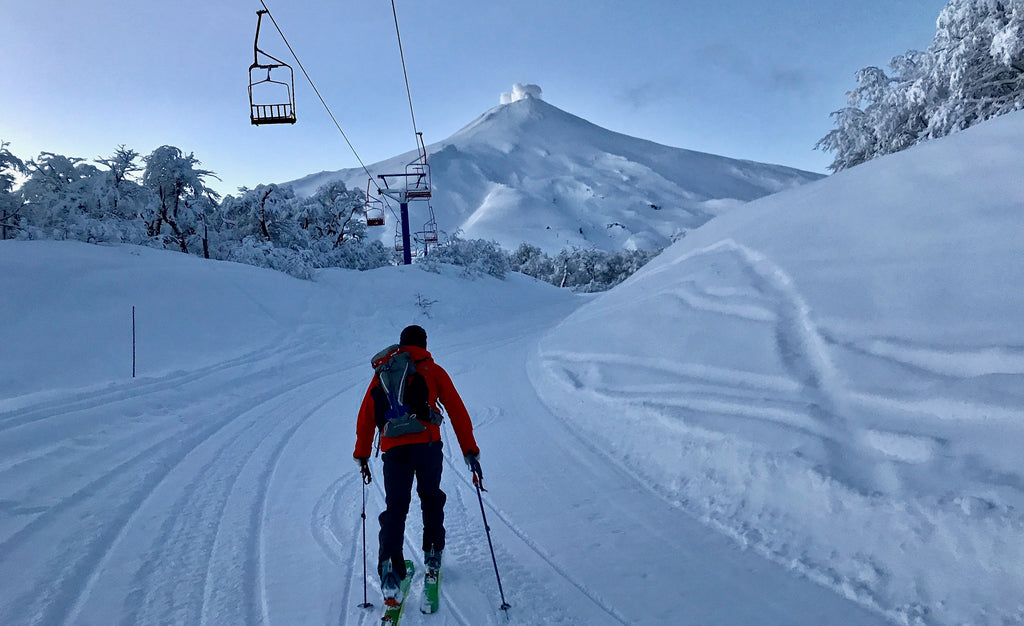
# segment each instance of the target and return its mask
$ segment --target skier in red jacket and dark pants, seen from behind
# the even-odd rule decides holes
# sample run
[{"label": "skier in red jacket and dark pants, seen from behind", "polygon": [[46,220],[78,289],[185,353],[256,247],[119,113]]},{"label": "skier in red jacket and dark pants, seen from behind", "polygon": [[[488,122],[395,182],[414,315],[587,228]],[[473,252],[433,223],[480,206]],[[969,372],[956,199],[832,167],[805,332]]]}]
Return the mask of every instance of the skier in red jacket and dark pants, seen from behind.
[{"label": "skier in red jacket and dark pants, seen from behind", "polygon": [[[414,476],[423,511],[424,565],[428,571],[433,572],[440,568],[441,552],[444,549],[446,496],[440,489],[443,462],[440,420],[430,418],[432,415],[439,415],[438,403],[447,412],[466,464],[474,474],[482,477],[480,450],[473,437],[469,413],[447,372],[434,363],[427,351],[426,331],[419,326],[409,326],[401,331],[399,345],[393,347],[396,351],[408,352],[415,365],[414,377],[409,379],[408,384],[403,384],[406,398],[401,402],[416,412],[416,417],[423,422],[424,428],[419,432],[397,436],[386,436],[382,432],[380,437],[386,508],[379,517],[381,530],[377,573],[381,577],[385,603],[391,606],[404,599],[398,595],[401,581],[407,575],[402,542]],[[420,376],[422,382],[418,378]],[[389,395],[390,392],[385,393],[385,389],[382,389],[381,378],[374,376],[359,407],[355,425],[355,451],[352,456],[367,482],[371,479],[370,453],[375,429],[383,428],[386,414],[392,409]]]}]

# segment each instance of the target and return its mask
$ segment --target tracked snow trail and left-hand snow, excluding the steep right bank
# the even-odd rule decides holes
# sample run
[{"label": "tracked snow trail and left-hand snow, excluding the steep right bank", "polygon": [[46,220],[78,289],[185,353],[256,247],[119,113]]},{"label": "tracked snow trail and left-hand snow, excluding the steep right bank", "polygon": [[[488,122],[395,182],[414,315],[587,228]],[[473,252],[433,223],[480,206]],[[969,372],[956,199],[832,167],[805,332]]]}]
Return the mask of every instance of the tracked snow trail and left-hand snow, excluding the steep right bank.
[{"label": "tracked snow trail and left-hand snow, excluding the steep right bank", "polygon": [[[445,428],[443,597],[407,626],[881,623],[702,527],[544,407],[527,357],[586,296],[454,268],[303,282],[10,241],[0,292],[17,321],[0,325],[0,624],[379,623],[383,490],[361,488],[354,416],[370,357],[414,322],[473,417],[512,609]],[[420,559],[416,508],[406,546]]]}]

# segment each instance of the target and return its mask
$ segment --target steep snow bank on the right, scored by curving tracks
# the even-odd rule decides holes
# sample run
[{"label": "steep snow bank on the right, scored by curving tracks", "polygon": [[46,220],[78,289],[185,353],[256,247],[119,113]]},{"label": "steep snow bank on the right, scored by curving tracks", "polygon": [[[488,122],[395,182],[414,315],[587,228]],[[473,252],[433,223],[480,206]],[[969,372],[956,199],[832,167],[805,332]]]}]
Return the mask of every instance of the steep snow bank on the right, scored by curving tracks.
[{"label": "steep snow bank on the right, scored by curving tracks", "polygon": [[1022,147],[1014,114],[720,216],[559,325],[534,381],[898,621],[1021,623]]}]

